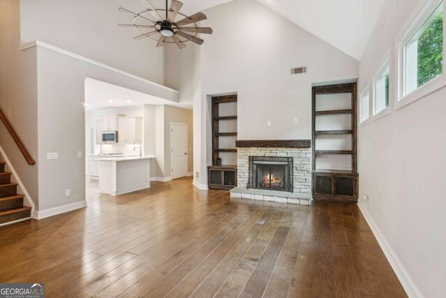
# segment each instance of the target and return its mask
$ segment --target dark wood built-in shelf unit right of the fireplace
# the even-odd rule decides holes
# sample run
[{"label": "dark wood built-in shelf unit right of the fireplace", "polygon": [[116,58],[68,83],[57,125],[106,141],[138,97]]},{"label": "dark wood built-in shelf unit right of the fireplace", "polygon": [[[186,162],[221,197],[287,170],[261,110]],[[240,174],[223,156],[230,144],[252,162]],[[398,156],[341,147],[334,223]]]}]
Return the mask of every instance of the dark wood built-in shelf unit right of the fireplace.
[{"label": "dark wood built-in shelf unit right of the fireplace", "polygon": [[[343,110],[317,110],[316,100],[320,94],[351,94],[351,108]],[[330,200],[335,202],[357,202],[358,174],[357,174],[357,89],[356,83],[335,84],[313,87],[313,182],[312,193],[314,200]],[[333,99],[335,100],[335,99]],[[316,131],[316,117],[326,115],[351,114],[351,129]],[[321,135],[351,135],[351,150],[317,150],[316,138]],[[351,170],[316,169],[316,158],[327,154],[351,155]]]}]

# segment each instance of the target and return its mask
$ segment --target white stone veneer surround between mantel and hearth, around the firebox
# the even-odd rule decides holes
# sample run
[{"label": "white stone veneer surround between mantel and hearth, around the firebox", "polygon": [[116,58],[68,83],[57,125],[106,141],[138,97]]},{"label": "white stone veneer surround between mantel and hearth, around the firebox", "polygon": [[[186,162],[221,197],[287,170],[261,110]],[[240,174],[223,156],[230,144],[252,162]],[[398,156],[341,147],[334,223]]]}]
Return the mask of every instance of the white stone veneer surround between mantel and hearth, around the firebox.
[{"label": "white stone veneer surround between mantel and hearth, around the firebox", "polygon": [[312,192],[312,149],[291,147],[245,147],[237,149],[237,186],[246,188],[249,156],[293,157],[293,193]]}]

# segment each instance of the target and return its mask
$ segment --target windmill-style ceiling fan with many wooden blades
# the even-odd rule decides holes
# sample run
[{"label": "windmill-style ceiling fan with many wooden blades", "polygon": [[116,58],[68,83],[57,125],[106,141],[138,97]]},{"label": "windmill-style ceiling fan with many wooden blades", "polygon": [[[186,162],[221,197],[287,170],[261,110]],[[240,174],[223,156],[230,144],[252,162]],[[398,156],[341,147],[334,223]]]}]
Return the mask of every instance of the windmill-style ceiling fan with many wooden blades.
[{"label": "windmill-style ceiling fan with many wooden blades", "polygon": [[[165,9],[155,9],[148,0],[139,0],[139,2],[146,8],[141,13],[132,13],[132,11],[125,8],[119,8],[119,10],[134,16],[133,24],[118,24],[121,27],[133,27],[137,29],[141,34],[134,36],[134,39],[151,38],[157,40],[157,47],[162,47],[164,43],[176,43],[180,49],[183,49],[186,46],[185,42],[188,40],[192,41],[192,43],[202,45],[204,40],[197,37],[199,33],[213,33],[211,28],[198,27],[196,24],[207,19],[204,13],[196,13],[190,17],[180,13],[180,9],[183,7],[183,3],[180,1],[171,0],[170,8],[168,8],[168,0],[166,0]],[[178,15],[184,18],[175,21]],[[154,20],[152,20],[153,18]],[[187,26],[190,24],[192,26]],[[189,33],[192,33],[192,35]]]}]

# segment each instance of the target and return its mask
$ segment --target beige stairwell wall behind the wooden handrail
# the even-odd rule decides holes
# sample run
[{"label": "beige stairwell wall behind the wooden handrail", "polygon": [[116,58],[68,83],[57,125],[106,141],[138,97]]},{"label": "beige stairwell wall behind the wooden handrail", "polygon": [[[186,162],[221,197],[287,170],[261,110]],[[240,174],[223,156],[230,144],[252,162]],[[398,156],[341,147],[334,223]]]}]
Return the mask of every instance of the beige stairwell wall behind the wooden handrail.
[{"label": "beige stairwell wall behind the wooden handrail", "polygon": [[[0,1],[0,36],[0,108],[37,161],[37,51],[20,52],[20,3],[16,0]],[[39,164],[26,163],[2,123],[0,145],[38,208]]]}]

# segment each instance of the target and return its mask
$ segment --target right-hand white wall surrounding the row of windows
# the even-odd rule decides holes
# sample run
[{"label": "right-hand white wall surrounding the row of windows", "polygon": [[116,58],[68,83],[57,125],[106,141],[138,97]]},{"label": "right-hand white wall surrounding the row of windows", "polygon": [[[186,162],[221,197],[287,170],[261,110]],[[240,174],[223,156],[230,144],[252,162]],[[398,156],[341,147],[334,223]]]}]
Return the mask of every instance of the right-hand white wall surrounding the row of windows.
[{"label": "right-hand white wall surrounding the row of windows", "polygon": [[[387,1],[360,63],[358,91],[425,0]],[[393,65],[393,64],[392,64]],[[391,76],[395,75],[394,68]],[[391,82],[395,90],[395,81]],[[446,89],[359,128],[360,205],[400,262],[412,297],[446,295]],[[391,91],[391,100],[394,96]],[[362,201],[369,195],[369,202]]]}]

